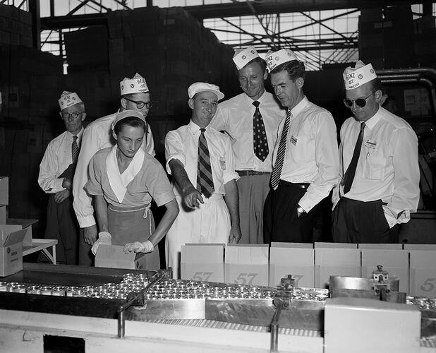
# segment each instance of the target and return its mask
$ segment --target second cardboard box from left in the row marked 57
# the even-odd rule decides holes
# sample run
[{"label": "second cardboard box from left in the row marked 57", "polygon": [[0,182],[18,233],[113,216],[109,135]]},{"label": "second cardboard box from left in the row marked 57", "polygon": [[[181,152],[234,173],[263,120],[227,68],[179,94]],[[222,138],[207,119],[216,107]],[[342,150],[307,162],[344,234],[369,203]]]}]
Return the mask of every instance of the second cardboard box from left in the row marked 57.
[{"label": "second cardboard box from left in the row marked 57", "polygon": [[228,244],[224,282],[236,285],[268,285],[267,244]]}]

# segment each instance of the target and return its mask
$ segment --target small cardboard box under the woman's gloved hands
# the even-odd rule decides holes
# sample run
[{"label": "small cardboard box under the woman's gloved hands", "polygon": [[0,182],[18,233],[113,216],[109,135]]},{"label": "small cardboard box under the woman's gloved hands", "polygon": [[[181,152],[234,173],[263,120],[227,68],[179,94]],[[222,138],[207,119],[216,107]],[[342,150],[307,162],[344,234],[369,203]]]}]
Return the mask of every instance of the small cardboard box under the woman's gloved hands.
[{"label": "small cardboard box under the woman's gloved hands", "polygon": [[102,244],[95,254],[95,267],[147,270],[146,253],[124,253],[122,245]]}]

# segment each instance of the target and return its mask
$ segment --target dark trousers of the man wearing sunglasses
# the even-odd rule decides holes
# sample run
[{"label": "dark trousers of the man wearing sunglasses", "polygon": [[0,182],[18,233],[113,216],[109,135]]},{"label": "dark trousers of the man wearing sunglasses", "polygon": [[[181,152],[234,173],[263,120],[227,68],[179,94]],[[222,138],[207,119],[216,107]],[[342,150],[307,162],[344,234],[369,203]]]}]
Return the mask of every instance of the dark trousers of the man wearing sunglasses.
[{"label": "dark trousers of the man wearing sunglasses", "polygon": [[341,198],[332,215],[335,243],[396,243],[399,225],[389,229],[383,203]]}]

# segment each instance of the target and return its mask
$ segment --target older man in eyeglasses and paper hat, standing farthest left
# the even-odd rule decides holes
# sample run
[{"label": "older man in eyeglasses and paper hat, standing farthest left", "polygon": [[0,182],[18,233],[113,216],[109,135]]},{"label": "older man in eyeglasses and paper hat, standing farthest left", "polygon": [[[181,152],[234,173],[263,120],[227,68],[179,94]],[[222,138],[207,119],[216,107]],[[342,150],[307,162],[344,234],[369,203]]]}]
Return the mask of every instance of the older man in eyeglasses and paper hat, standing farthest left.
[{"label": "older man in eyeglasses and paper hat, standing farthest left", "polygon": [[63,91],[59,99],[66,131],[47,145],[40,164],[38,184],[48,193],[45,239],[57,239],[59,263],[77,265],[79,227],[73,211],[73,176],[83,135],[85,104],[77,93]]}]

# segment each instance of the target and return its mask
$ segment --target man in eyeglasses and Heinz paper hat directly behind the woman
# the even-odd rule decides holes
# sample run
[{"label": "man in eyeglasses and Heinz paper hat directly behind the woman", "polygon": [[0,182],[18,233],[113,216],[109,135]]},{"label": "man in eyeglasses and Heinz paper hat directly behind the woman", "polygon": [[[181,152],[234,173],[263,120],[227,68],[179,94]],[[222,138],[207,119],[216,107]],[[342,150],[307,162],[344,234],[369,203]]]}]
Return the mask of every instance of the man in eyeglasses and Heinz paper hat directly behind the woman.
[{"label": "man in eyeglasses and Heinz paper hat directly behind the woman", "polygon": [[[120,90],[121,107],[118,112],[123,112],[127,109],[135,110],[147,117],[152,107],[152,102],[150,101],[150,91],[145,78],[138,73],[136,73],[133,78],[124,78],[120,82]],[[92,156],[95,155],[95,152],[114,145],[115,141],[112,138],[111,125],[116,118],[116,113],[92,121],[92,123],[85,128],[85,132],[83,133],[82,149],[80,150],[73,182],[73,205],[75,215],[80,225],[79,265],[92,265],[94,256],[92,256],[91,253],[91,246],[97,240],[98,234],[91,198],[83,189],[83,186],[85,186],[88,181],[87,167]],[[150,124],[147,124],[146,131],[142,148],[145,152],[154,156],[155,145],[153,143]]]}]

